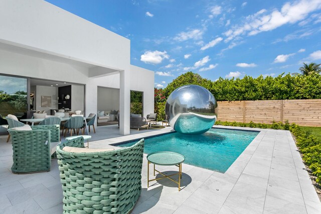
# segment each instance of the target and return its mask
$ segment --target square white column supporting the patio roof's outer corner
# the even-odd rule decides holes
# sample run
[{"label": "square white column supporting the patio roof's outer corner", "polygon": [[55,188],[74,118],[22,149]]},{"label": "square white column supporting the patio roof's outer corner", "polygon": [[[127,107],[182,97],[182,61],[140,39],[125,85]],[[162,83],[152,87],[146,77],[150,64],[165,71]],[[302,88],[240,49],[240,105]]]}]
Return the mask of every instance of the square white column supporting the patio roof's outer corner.
[{"label": "square white column supporting the patio roof's outer corner", "polygon": [[130,72],[128,69],[119,73],[119,133],[128,135],[130,134]]}]

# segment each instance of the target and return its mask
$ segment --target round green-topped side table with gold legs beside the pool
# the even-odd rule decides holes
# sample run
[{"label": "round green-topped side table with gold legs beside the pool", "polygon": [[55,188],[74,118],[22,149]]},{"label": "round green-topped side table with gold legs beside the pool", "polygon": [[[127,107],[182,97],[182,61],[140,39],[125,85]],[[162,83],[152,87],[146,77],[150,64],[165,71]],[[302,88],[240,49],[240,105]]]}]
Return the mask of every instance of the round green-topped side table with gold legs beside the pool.
[{"label": "round green-topped side table with gold legs beside the pool", "polygon": [[[158,180],[158,179],[163,179],[163,178],[169,178],[173,182],[177,183],[179,185],[179,191],[181,190],[181,178],[182,178],[182,163],[184,162],[185,157],[182,154],[176,153],[176,152],[171,152],[171,151],[159,151],[159,152],[153,152],[147,155],[147,188],[149,187],[149,181],[153,180]],[[155,176],[155,171],[158,172],[159,174],[162,174],[163,177],[158,177],[155,179],[149,180],[149,163],[154,164],[154,176]],[[179,167],[179,172],[175,174],[170,174],[170,175],[165,175],[162,172],[158,171],[155,169],[155,165],[161,165],[161,166],[172,166],[176,165]],[[173,175],[179,175],[179,181],[176,181],[172,179],[170,176]]]}]

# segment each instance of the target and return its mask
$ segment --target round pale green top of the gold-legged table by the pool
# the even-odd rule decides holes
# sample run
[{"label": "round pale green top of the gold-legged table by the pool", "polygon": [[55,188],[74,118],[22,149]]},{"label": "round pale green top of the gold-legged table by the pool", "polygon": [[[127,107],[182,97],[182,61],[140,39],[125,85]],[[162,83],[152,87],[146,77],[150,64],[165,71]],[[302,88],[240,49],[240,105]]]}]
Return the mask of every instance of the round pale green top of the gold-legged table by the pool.
[{"label": "round pale green top of the gold-legged table by the pool", "polygon": [[156,165],[170,166],[184,162],[185,157],[176,152],[159,151],[148,154],[147,160]]}]

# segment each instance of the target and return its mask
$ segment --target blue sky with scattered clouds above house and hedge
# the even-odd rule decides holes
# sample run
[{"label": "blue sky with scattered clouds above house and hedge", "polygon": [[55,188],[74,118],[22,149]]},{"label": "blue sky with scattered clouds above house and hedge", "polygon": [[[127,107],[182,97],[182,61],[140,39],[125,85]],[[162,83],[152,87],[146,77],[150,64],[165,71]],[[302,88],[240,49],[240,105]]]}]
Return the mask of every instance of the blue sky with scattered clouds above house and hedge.
[{"label": "blue sky with scattered clouds above house and hedge", "polygon": [[187,71],[277,76],[321,63],[321,0],[47,0],[130,39],[131,64],[163,88]]}]

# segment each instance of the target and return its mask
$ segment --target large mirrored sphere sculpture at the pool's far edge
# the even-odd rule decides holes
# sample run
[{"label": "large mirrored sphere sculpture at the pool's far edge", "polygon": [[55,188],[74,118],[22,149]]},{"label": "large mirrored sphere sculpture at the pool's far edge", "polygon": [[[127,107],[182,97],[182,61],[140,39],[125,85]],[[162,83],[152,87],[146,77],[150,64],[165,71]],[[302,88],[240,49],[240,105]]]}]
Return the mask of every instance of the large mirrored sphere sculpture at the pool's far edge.
[{"label": "large mirrored sphere sculpture at the pool's far edge", "polygon": [[213,94],[198,85],[182,86],[169,96],[165,106],[166,118],[177,132],[202,134],[217,119],[217,102]]}]

